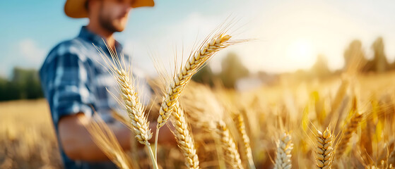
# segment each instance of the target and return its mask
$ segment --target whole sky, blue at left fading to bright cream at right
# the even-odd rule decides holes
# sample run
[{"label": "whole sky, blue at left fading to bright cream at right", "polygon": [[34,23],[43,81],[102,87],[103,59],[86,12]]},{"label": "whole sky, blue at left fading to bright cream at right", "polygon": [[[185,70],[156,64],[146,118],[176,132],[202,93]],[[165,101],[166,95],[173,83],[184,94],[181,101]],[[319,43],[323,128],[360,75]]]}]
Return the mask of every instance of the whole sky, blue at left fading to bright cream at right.
[{"label": "whole sky, blue at left fading to bright cream at right", "polygon": [[[154,8],[131,11],[128,27],[116,34],[126,52],[142,70],[155,74],[150,56],[172,58],[182,47],[191,49],[196,39],[229,16],[239,20],[232,27],[235,38],[257,39],[221,51],[220,61],[235,52],[252,72],[271,73],[309,68],[324,54],[332,69],[343,65],[343,51],[360,39],[372,57],[370,45],[384,37],[390,61],[395,58],[395,1],[275,1],[156,0]],[[57,43],[75,37],[86,19],[67,18],[64,0],[0,2],[0,75],[9,76],[14,66],[40,68]],[[189,52],[186,52],[189,53]],[[184,56],[187,57],[187,56]]]}]

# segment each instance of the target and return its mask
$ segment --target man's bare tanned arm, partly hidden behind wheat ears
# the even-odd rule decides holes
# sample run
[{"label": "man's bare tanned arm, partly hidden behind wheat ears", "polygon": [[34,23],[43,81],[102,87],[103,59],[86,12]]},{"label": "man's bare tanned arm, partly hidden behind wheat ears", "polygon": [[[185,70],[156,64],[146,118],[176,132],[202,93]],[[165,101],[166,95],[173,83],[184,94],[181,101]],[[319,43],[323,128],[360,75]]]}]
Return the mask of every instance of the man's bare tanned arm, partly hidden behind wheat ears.
[{"label": "man's bare tanned arm, partly hidden behind wheat ears", "polygon": [[[59,120],[59,139],[66,155],[73,160],[81,161],[108,161],[107,156],[93,142],[90,137],[86,125],[89,120],[83,113],[67,115]],[[120,125],[109,125],[119,144],[123,149],[130,149],[131,130],[127,127],[119,127]],[[150,124],[151,131],[155,133],[156,123]],[[153,139],[151,139],[152,141]],[[176,145],[175,137],[168,127],[162,127],[159,144]],[[133,150],[132,150],[133,151]]]}]

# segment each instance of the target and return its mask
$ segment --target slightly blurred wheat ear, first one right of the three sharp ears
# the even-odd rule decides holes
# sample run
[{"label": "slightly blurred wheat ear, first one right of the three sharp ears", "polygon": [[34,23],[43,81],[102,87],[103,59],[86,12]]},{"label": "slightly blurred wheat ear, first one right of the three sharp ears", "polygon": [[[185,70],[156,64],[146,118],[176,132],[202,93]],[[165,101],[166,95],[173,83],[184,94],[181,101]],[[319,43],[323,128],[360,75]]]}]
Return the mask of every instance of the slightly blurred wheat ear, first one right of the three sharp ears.
[{"label": "slightly blurred wheat ear, first one right of the three sharp ears", "polygon": [[232,166],[232,168],[243,168],[240,154],[237,152],[235,141],[232,139],[232,137],[230,137],[228,127],[226,127],[223,120],[217,122],[216,132],[223,147],[225,158],[228,159],[227,162]]}]

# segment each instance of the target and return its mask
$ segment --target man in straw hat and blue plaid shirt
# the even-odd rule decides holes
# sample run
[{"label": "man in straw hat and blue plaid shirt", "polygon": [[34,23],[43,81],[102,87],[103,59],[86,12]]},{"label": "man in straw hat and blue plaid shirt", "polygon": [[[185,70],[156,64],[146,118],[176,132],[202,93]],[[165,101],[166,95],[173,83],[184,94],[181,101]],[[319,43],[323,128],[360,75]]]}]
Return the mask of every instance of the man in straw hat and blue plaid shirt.
[{"label": "man in straw hat and blue plaid shirt", "polygon": [[[71,18],[88,18],[89,23],[81,28],[77,37],[55,46],[40,69],[42,88],[51,109],[65,168],[115,168],[90,139],[86,130],[85,126],[93,113],[98,113],[105,120],[123,149],[131,146],[130,139],[134,139],[131,131],[119,125],[110,115],[112,111],[117,111],[119,105],[107,89],[114,89],[117,84],[103,68],[103,63],[98,63],[103,60],[93,44],[102,48],[110,57],[105,46],[107,44],[120,56],[122,45],[114,39],[114,32],[122,32],[131,9],[142,6],[154,6],[154,2],[66,0],[66,15]],[[124,57],[129,59],[126,54]],[[148,87],[145,89],[150,91]],[[155,123],[151,123],[154,133],[155,126]],[[169,137],[159,137],[159,142],[175,142],[167,127],[161,130],[161,135]]]}]

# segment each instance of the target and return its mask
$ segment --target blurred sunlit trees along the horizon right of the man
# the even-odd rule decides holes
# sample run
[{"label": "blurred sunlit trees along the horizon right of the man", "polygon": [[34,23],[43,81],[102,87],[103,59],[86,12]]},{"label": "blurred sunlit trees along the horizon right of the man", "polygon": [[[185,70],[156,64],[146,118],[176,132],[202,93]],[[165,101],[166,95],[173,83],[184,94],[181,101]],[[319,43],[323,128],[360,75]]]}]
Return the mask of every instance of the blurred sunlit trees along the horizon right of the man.
[{"label": "blurred sunlit trees along the horizon right of the man", "polygon": [[[350,42],[343,53],[344,66],[341,70],[331,71],[326,57],[323,54],[319,54],[316,62],[311,68],[307,70],[297,70],[295,73],[289,73],[289,75],[299,80],[312,80],[315,78],[325,79],[327,77],[340,75],[350,66],[355,65],[358,65],[359,73],[384,73],[395,70],[395,61],[393,63],[389,63],[387,60],[382,37],[377,37],[377,39],[375,39],[375,42],[370,45],[370,50],[372,50],[373,56],[369,59],[366,57],[367,50],[362,46],[362,42],[355,39]],[[211,68],[206,66],[199,71],[199,73],[194,75],[192,79],[196,82],[209,84],[211,86],[213,86],[214,83],[219,82],[223,87],[234,88],[237,80],[250,76],[248,69],[242,65],[240,58],[236,54],[228,54],[228,56],[223,59],[221,67],[222,71],[220,73],[213,73]],[[259,72],[256,77],[259,77],[264,81],[266,79],[265,83],[268,83],[267,79],[273,79],[273,75],[269,75],[263,71]],[[270,84],[270,82],[268,84]]]}]

